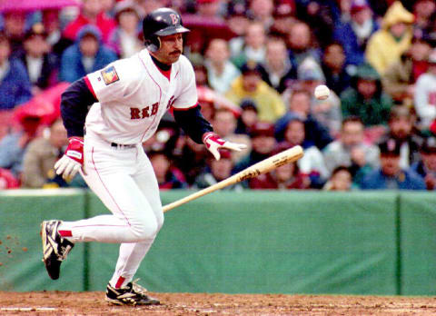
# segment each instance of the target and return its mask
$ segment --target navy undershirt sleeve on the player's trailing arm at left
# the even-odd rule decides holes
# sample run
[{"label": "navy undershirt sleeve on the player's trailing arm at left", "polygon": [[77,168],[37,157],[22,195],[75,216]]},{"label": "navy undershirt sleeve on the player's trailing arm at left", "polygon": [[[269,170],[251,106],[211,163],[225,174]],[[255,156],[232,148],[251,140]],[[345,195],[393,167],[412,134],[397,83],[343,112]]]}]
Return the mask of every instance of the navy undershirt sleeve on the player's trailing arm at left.
[{"label": "navy undershirt sleeve on the player's trailing arm at left", "polygon": [[61,116],[68,137],[84,136],[84,121],[89,106],[98,102],[84,78],[71,84],[61,96]]}]

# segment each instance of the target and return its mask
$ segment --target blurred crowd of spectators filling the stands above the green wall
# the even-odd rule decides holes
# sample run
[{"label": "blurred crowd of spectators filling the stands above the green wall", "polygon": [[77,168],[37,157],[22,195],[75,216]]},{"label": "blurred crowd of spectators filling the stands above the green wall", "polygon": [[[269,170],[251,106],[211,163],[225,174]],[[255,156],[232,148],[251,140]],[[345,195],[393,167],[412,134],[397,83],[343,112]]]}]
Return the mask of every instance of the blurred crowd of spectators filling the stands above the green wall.
[{"label": "blurred crowd of spectators filling the stands above the green wall", "polygon": [[142,18],[163,6],[192,30],[203,115],[247,149],[215,161],[170,111],[143,144],[162,190],[204,188],[296,144],[297,163],[226,190],[436,189],[436,0],[22,0],[0,1],[0,190],[86,187],[54,173],[60,95],[144,49]]}]

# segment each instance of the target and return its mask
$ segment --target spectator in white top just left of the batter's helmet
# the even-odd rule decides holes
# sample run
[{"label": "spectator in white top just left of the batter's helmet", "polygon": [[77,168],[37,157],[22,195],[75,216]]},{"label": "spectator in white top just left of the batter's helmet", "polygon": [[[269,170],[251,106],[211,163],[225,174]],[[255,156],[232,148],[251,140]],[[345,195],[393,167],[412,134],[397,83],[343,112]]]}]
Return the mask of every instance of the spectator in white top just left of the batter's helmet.
[{"label": "spectator in white top just left of the batter's helmet", "polygon": [[139,22],[143,18],[141,10],[134,0],[123,0],[114,6],[116,27],[109,36],[108,46],[121,58],[130,57],[144,47],[138,30]]}]

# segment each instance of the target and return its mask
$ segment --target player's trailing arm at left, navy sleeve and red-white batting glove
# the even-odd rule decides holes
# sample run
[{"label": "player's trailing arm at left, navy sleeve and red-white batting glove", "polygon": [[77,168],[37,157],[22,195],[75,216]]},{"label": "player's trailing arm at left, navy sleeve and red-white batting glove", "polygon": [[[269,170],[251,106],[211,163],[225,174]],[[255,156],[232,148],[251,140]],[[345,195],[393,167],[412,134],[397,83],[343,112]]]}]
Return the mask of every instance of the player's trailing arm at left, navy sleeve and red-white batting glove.
[{"label": "player's trailing arm at left, navy sleeve and red-white batting glove", "polygon": [[61,116],[68,135],[68,147],[54,164],[57,174],[73,178],[84,164],[84,121],[89,106],[98,102],[86,77],[71,84],[61,96]]}]

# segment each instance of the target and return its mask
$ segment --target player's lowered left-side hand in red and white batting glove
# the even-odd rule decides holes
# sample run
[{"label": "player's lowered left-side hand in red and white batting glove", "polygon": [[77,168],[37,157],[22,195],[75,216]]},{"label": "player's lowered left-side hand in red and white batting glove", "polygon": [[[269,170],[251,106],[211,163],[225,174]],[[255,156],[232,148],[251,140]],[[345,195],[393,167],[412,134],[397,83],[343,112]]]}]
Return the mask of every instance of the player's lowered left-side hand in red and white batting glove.
[{"label": "player's lowered left-side hand in red and white batting glove", "polygon": [[73,179],[75,173],[84,165],[84,140],[79,137],[71,137],[68,147],[61,159],[54,163],[54,170],[62,174],[64,179]]}]

